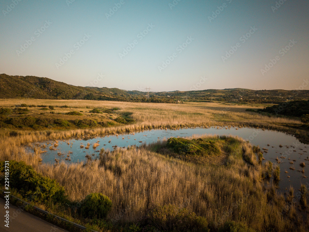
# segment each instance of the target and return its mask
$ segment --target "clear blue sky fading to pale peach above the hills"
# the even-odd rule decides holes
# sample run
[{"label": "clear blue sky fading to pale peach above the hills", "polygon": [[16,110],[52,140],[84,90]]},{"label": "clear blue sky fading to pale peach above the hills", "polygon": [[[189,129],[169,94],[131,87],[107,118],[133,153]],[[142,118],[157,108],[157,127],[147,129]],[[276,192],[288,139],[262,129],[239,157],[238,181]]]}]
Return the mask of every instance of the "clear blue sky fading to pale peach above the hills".
[{"label": "clear blue sky fading to pale peach above the hills", "polygon": [[309,89],[307,0],[0,2],[7,75],[155,92]]}]

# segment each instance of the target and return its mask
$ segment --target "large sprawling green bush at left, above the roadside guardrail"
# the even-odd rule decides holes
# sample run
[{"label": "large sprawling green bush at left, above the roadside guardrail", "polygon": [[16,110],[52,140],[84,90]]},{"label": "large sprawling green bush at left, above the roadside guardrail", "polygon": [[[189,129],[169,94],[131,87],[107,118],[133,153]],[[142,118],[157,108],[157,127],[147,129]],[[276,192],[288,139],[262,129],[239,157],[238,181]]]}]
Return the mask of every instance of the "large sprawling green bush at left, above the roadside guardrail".
[{"label": "large sprawling green bush at left, above the roadside guardrail", "polygon": [[[65,190],[55,180],[37,173],[25,162],[10,161],[10,187],[15,188],[29,201],[46,202],[65,201]],[[0,171],[4,172],[4,161],[0,162]]]}]

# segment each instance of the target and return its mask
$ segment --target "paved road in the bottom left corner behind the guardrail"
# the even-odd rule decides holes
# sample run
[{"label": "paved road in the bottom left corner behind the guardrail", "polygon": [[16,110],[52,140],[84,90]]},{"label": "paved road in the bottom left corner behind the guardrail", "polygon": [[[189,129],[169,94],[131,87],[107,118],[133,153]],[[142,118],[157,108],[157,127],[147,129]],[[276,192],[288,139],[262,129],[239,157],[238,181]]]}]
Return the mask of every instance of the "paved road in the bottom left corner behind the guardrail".
[{"label": "paved road in the bottom left corner behind the guardrail", "polygon": [[5,219],[5,201],[0,199],[0,231],[9,232],[67,232],[53,224],[33,216],[30,213],[20,210],[10,203],[10,224],[7,228],[4,223]]}]

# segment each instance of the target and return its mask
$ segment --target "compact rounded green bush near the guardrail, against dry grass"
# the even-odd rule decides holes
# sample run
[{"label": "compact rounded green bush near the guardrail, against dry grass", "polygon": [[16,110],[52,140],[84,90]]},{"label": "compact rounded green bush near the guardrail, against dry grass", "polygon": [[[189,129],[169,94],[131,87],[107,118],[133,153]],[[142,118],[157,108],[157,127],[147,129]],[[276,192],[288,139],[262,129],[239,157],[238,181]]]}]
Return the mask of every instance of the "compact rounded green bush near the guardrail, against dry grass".
[{"label": "compact rounded green bush near the guardrail, against dry grass", "polygon": [[102,193],[91,193],[86,196],[81,204],[83,217],[105,218],[112,209],[112,201]]}]

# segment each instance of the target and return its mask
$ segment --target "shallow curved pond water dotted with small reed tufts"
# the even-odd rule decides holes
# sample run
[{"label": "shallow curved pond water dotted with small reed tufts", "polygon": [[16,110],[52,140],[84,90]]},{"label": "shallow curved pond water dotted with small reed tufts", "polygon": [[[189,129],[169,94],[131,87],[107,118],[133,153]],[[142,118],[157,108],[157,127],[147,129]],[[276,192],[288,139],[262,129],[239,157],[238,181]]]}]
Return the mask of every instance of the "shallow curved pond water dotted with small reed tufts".
[{"label": "shallow curved pond water dotted with small reed tufts", "polygon": [[[308,166],[309,162],[309,145],[299,142],[293,135],[288,135],[278,131],[270,130],[260,130],[256,128],[238,128],[231,127],[231,129],[226,129],[226,127],[217,127],[215,128],[186,128],[179,130],[148,130],[140,131],[136,133],[128,134],[119,134],[116,135],[105,135],[97,136],[91,138],[82,138],[80,139],[66,139],[66,140],[57,140],[58,146],[54,147],[57,150],[50,150],[49,147],[55,144],[54,141],[47,141],[45,143],[36,144],[37,146],[46,145],[46,153],[42,153],[42,162],[44,163],[55,163],[55,159],[58,161],[65,161],[68,163],[84,161],[86,160],[85,156],[89,155],[92,159],[99,157],[99,150],[104,148],[105,150],[114,149],[113,146],[117,147],[128,147],[131,145],[141,145],[141,144],[150,144],[158,140],[168,139],[170,137],[189,137],[192,135],[238,135],[245,140],[249,140],[253,145],[259,145],[260,148],[266,148],[266,152],[263,154],[265,161],[270,160],[274,165],[277,164],[276,158],[278,157],[280,164],[280,182],[279,189],[284,191],[286,188],[289,188],[291,185],[298,189],[300,184],[306,184],[309,188],[309,181],[303,176],[308,175]],[[70,143],[70,144],[68,144]],[[90,143],[89,149],[85,149],[87,143]],[[94,143],[99,143],[99,146],[93,148]],[[80,145],[83,144],[84,148],[80,148]],[[268,146],[269,144],[269,146]],[[280,147],[279,145],[282,145]],[[29,148],[30,149],[30,148]],[[70,153],[69,153],[70,152]],[[61,153],[61,155],[58,155]],[[69,156],[68,156],[69,155]],[[280,158],[285,157],[285,158]],[[67,160],[66,160],[67,158]],[[70,159],[70,160],[69,160]],[[290,160],[289,160],[290,159]],[[295,161],[293,161],[295,160]],[[265,162],[263,161],[263,162]],[[294,164],[290,164],[294,162]],[[306,166],[304,168],[300,167],[300,163],[304,162]],[[290,170],[289,168],[293,167],[295,170]],[[302,174],[300,171],[305,171]],[[299,170],[299,171],[298,171]],[[285,173],[287,171],[288,173]],[[288,178],[288,176],[290,176]]]}]

